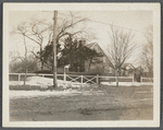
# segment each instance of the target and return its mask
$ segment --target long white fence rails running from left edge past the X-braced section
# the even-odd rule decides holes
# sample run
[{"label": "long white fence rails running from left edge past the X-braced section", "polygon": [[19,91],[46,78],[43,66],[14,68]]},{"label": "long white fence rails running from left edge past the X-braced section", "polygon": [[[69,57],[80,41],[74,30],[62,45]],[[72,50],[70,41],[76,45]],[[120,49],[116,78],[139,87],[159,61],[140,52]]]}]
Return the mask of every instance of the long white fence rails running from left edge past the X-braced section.
[{"label": "long white fence rails running from left edge past the X-braced section", "polygon": [[[25,79],[25,73],[9,73],[10,81],[23,81]],[[12,78],[13,76],[13,78]],[[53,74],[45,73],[27,73],[26,76],[45,76],[52,78]],[[91,83],[99,84],[100,82],[115,82],[116,76],[105,76],[105,75],[77,75],[77,74],[57,74],[59,80],[75,82],[75,83]],[[134,76],[118,76],[120,82],[134,82]]]}]

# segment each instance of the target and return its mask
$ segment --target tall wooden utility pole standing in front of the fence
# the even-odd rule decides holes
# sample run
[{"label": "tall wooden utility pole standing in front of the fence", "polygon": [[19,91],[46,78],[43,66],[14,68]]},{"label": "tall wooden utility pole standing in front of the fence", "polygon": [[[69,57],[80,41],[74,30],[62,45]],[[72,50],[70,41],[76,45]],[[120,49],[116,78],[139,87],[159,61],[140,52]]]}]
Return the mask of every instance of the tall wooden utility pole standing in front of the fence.
[{"label": "tall wooden utility pole standing in front of the fence", "polygon": [[57,23],[58,11],[53,12],[53,87],[58,87],[57,80]]}]

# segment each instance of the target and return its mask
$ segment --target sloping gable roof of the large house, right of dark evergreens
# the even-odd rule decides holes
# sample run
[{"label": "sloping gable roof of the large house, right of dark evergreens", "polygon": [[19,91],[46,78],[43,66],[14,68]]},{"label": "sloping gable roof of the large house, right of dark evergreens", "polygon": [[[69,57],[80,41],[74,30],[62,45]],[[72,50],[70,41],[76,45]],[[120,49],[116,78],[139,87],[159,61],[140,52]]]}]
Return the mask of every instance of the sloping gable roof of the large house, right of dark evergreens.
[{"label": "sloping gable roof of the large house, right of dark evergreens", "polygon": [[96,50],[98,54],[102,54],[105,57],[104,64],[108,67],[113,67],[112,62],[109,60],[108,56],[103,51],[103,49],[100,47],[98,43],[91,43],[86,45],[88,48]]}]

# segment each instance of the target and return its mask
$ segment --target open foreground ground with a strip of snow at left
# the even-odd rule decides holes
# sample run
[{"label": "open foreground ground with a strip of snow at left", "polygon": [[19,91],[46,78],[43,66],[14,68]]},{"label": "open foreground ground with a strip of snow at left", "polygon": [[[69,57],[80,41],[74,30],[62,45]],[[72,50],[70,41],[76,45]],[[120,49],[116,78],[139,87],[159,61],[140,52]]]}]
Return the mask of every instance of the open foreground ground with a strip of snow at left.
[{"label": "open foreground ground with a strip of snow at left", "polygon": [[[12,86],[13,87],[13,86]],[[12,90],[11,121],[151,120],[153,86]],[[22,96],[18,96],[22,94]]]}]

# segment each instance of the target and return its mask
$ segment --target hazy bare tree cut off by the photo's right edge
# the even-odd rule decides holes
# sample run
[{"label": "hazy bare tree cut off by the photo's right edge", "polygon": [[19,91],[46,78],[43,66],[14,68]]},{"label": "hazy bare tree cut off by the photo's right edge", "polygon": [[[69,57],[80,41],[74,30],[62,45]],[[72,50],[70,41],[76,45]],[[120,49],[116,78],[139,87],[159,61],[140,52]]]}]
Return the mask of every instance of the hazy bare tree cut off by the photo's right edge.
[{"label": "hazy bare tree cut off by the photo's right edge", "polygon": [[148,69],[150,75],[153,76],[153,26],[148,26],[146,32],[147,43],[142,48],[141,63],[143,68]]}]

